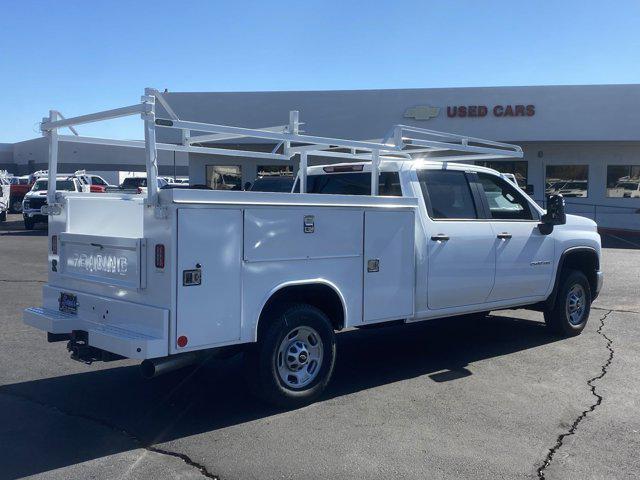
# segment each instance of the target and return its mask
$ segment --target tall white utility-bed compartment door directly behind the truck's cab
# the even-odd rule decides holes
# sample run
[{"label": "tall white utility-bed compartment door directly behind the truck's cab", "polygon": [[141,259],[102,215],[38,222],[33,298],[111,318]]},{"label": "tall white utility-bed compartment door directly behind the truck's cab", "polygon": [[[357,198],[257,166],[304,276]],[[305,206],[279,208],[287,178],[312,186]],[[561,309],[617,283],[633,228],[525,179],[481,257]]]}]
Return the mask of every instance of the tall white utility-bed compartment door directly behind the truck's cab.
[{"label": "tall white utility-bed compartment door directly behind the truck's cab", "polygon": [[412,317],[414,212],[367,211],[364,218],[364,321]]}]

